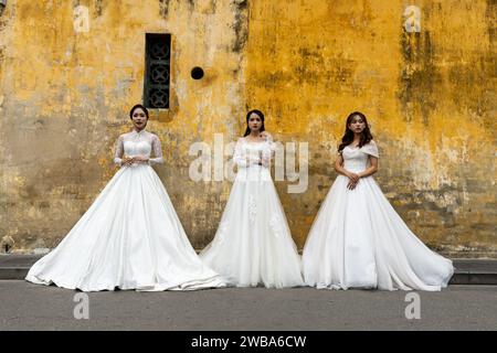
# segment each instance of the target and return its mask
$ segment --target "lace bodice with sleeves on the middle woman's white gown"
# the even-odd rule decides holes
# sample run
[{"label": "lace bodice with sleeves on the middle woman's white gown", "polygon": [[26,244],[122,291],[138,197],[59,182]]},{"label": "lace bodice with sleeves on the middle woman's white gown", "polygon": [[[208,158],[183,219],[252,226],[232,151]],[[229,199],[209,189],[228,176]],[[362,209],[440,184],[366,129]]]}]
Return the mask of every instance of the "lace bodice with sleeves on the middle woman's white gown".
[{"label": "lace bodice with sleeves on the middle woman's white gown", "polygon": [[244,138],[240,138],[235,146],[233,161],[239,168],[253,165],[268,168],[273,151],[274,142],[271,136],[267,137],[266,141],[262,142],[248,142]]}]

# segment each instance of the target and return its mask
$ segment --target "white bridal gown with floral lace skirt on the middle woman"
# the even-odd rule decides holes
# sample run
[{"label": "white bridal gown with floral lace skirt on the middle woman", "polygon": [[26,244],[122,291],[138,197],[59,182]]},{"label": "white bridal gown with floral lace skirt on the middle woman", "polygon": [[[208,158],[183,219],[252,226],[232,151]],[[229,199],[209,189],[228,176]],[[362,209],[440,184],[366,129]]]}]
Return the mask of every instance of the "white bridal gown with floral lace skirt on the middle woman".
[{"label": "white bridal gown with floral lace skirt on the middle woman", "polygon": [[300,256],[268,169],[273,146],[271,139],[237,141],[230,197],[214,239],[200,253],[230,286],[304,286]]}]

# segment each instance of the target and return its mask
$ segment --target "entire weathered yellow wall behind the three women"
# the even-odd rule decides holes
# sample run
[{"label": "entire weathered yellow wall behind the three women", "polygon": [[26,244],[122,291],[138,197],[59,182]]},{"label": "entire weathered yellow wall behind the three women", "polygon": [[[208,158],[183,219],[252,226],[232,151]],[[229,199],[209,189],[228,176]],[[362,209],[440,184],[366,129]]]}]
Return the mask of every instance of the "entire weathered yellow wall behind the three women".
[{"label": "entire weathered yellow wall behind the three women", "polygon": [[[112,178],[141,100],[145,33],[172,34],[171,107],[152,111],[157,172],[192,244],[213,236],[231,183],[189,180],[194,141],[225,142],[247,108],[279,141],[309,142],[309,188],[276,182],[294,238],[336,176],[352,110],[380,147],[376,179],[409,226],[454,256],[497,256],[495,1],[10,0],[0,17],[0,236],[52,247]],[[89,9],[75,33],[73,8]],[[421,32],[403,29],[417,6]],[[201,66],[205,77],[193,81]]]}]

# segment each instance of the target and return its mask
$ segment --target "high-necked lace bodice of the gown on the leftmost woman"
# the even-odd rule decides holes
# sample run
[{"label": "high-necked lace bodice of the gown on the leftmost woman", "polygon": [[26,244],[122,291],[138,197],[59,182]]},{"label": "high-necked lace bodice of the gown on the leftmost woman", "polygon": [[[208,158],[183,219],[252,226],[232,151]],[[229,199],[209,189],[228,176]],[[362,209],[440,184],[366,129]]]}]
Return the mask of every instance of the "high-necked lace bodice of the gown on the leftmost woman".
[{"label": "high-necked lace bodice of the gown on the leftmost woman", "polygon": [[[154,158],[150,158],[154,151]],[[141,130],[137,132],[135,129],[130,132],[123,133],[117,139],[116,153],[114,156],[114,163],[121,165],[123,156],[145,156],[148,157],[148,164],[163,163],[162,148],[157,135]]]}]

